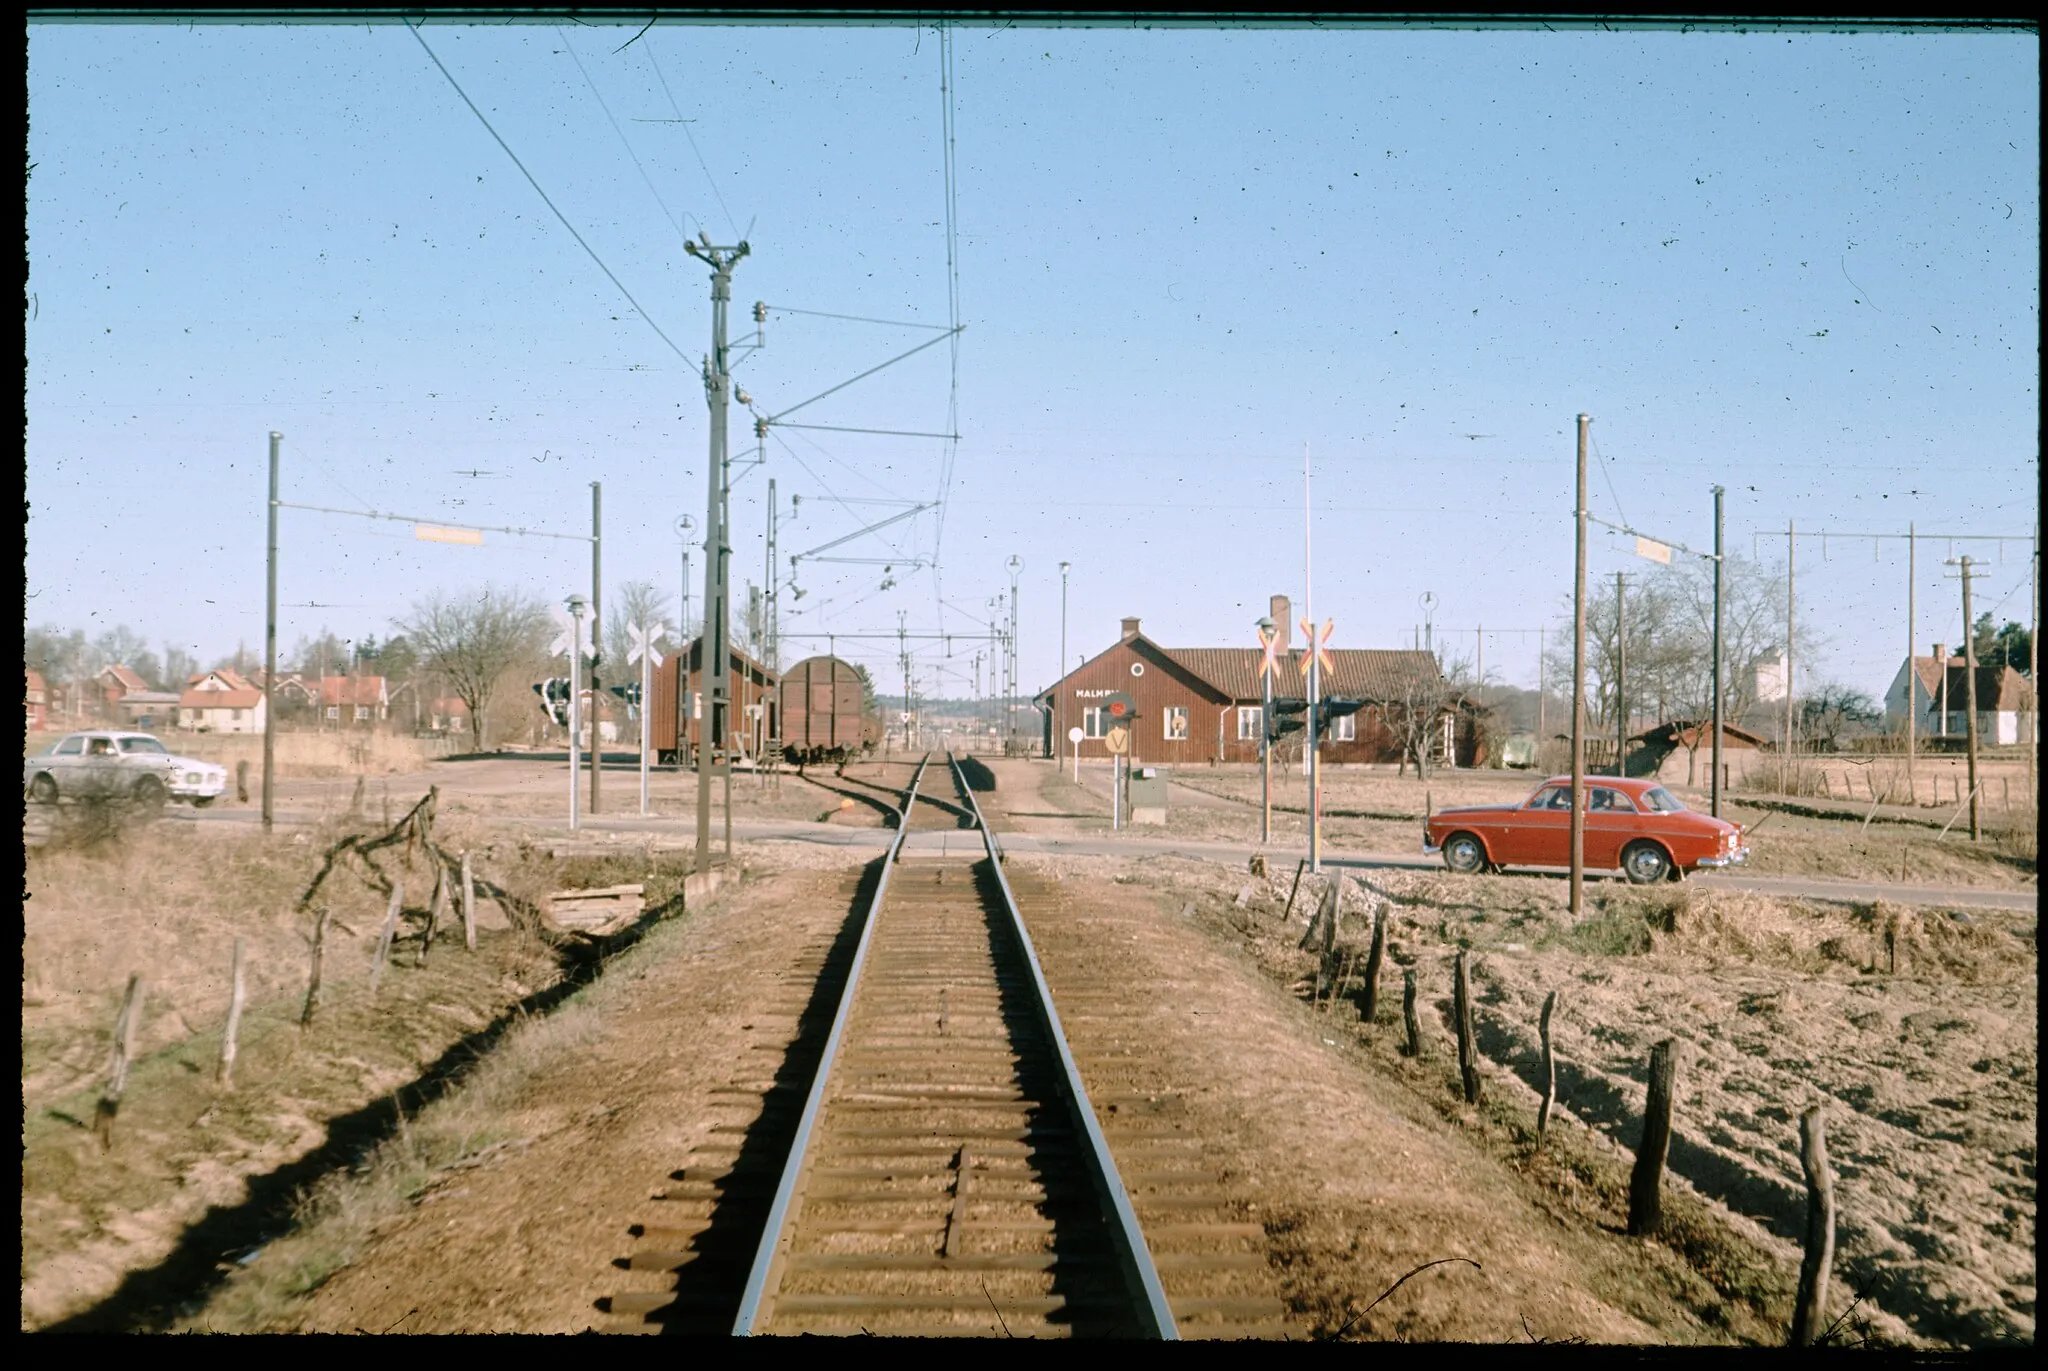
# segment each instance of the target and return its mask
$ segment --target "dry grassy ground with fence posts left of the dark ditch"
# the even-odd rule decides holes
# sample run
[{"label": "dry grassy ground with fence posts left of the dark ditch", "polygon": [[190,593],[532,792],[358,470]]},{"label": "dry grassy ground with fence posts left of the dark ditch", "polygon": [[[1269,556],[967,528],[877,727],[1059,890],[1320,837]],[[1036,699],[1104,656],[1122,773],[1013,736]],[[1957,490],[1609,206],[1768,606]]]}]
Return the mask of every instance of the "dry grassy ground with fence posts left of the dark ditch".
[{"label": "dry grassy ground with fence posts left of the dark ditch", "polygon": [[[299,896],[326,834],[264,840],[156,826],[100,850],[37,853],[23,941],[23,1326],[152,1328],[203,1297],[279,1232],[299,1187],[346,1168],[403,1113],[451,1088],[510,1023],[545,1012],[588,963],[477,900],[477,947],[451,906],[422,959],[432,873],[387,848],[406,889],[375,996],[387,902],[338,871],[322,992],[301,1027],[313,910]],[[659,912],[680,875],[551,863],[449,828],[508,898],[645,879]],[[246,1008],[233,1088],[215,1080],[233,945]],[[131,973],[145,994],[111,1146],[94,1137],[115,1016]],[[477,1146],[487,1146],[489,1139]]]}]

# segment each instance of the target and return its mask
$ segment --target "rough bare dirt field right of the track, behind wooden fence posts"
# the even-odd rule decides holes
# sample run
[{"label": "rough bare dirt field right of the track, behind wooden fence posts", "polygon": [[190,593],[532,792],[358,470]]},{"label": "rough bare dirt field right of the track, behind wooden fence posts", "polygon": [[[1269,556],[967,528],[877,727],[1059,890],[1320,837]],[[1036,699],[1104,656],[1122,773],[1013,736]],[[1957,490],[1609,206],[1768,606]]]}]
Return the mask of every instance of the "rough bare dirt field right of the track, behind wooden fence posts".
[{"label": "rough bare dirt field right of the track, behind wooden fence posts", "polygon": [[[1235,910],[1243,885],[1208,869],[1188,889]],[[1284,883],[1253,885],[1264,922],[1227,922],[1249,930],[1247,947],[1272,975],[1309,994],[1300,908],[1280,926],[1272,914]],[[1468,949],[1507,1154],[1526,1148],[1516,1121],[1534,1113],[1538,1016],[1556,990],[1561,1105],[1624,1148],[1640,1135],[1651,1045],[1681,1043],[1671,1170],[1753,1225],[1776,1271],[1743,1285],[1767,1320],[1790,1312],[1806,1203],[1798,1115],[1819,1105],[1837,1178],[1837,1310],[1876,1312],[1870,1334],[1880,1340],[2032,1340],[2032,916],[1618,889],[1593,896],[1573,924],[1548,889],[1516,879],[1374,873],[1360,885],[1339,957],[1362,951],[1370,914],[1389,914],[1380,1027],[1358,1025],[1356,969],[1337,992],[1335,1023],[1389,1070],[1413,1070],[1393,1045],[1399,975],[1417,973],[1444,1045],[1450,959]]]}]

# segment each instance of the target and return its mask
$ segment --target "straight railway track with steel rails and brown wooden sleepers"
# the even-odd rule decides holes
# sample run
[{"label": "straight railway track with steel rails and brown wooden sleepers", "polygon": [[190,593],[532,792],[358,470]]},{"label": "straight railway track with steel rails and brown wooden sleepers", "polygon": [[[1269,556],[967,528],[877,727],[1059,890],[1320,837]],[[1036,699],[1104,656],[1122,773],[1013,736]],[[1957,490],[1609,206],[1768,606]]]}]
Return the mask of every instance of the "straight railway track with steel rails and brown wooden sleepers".
[{"label": "straight railway track with steel rails and brown wooden sleepers", "polygon": [[[961,768],[928,758],[899,793],[889,855],[854,891],[864,916],[772,1006],[797,1021],[774,1078],[729,1088],[758,1111],[672,1176],[655,1199],[674,1217],[621,1262],[672,1283],[610,1312],[739,1336],[1176,1338],[1188,1316],[1208,1336],[1272,1332],[1278,1301],[1202,1289],[1264,1256],[1217,1250],[1257,1228],[1188,1166],[1192,1139],[1133,1139],[1133,1203]],[[981,850],[909,842],[932,830]],[[1141,1209],[1174,1238],[1176,1295]]]}]

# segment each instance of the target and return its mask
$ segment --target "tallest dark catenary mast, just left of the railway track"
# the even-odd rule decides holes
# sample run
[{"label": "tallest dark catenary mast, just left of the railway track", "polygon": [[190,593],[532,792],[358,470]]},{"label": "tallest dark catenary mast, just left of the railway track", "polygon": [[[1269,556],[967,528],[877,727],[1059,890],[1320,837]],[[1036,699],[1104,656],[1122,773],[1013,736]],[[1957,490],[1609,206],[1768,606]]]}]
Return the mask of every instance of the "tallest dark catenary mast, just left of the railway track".
[{"label": "tallest dark catenary mast, just left of the railway track", "polygon": [[[733,373],[725,352],[725,309],[733,299],[733,266],[748,254],[748,244],[715,248],[709,236],[684,242],[684,250],[711,266],[711,357],[705,359],[705,402],[711,406],[711,473],[705,500],[705,633],[698,639],[698,662],[705,682],[705,717],[696,734],[696,869],[711,871],[711,758],[713,746],[725,742],[725,711],[731,705],[731,650],[727,648],[727,529],[725,492],[727,432]],[[688,684],[688,664],[680,672]],[[678,687],[678,693],[680,687]],[[678,740],[680,748],[680,740]],[[733,805],[725,795],[725,850],[731,857]]]}]

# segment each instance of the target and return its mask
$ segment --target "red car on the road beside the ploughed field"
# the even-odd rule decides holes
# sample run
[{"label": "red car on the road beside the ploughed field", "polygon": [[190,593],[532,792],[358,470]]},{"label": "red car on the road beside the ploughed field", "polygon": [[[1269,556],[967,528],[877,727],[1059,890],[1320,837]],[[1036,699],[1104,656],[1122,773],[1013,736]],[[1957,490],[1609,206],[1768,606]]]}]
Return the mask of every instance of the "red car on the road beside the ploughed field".
[{"label": "red car on the road beside the ploughed field", "polygon": [[[1749,861],[1743,828],[1694,814],[1647,779],[1585,779],[1585,867],[1620,871],[1636,885],[1679,879],[1696,867]],[[1423,824],[1423,853],[1452,871],[1571,865],[1571,777],[1550,777],[1520,805],[1440,809]]]}]

